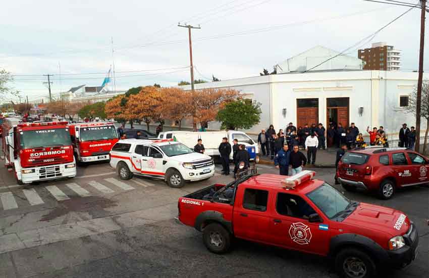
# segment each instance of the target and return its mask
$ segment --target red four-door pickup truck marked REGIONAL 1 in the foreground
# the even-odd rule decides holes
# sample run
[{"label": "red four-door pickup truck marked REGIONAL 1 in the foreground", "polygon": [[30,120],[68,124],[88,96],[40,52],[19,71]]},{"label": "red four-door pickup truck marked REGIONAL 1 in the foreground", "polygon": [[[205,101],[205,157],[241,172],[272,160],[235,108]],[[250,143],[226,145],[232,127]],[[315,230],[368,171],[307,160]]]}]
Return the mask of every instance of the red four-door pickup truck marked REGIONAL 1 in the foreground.
[{"label": "red four-door pickup truck marked REGIONAL 1 in the foreground", "polygon": [[240,238],[327,256],[342,277],[372,277],[414,260],[417,229],[403,212],[349,200],[314,174],[215,184],[180,198],[178,220],[202,231],[213,253]]}]

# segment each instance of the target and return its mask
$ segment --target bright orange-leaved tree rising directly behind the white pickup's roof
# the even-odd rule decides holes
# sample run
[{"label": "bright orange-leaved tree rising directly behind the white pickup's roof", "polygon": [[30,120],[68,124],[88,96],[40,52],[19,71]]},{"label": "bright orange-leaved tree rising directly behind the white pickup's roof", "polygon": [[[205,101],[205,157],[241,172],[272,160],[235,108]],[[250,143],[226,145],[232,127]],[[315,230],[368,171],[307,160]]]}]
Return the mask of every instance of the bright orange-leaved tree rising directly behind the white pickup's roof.
[{"label": "bright orange-leaved tree rising directly behind the white pickup's roof", "polygon": [[131,95],[127,102],[127,115],[133,115],[136,119],[143,119],[149,131],[149,124],[152,121],[162,121],[163,110],[160,106],[163,103],[160,89],[154,86],[141,88],[137,95]]}]

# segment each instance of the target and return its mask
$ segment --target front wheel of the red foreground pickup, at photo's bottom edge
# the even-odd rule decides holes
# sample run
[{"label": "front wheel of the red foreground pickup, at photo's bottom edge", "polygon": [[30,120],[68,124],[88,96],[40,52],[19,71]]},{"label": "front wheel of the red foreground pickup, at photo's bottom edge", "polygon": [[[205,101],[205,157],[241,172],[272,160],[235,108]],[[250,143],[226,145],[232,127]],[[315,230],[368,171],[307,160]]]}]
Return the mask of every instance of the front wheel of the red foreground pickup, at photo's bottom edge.
[{"label": "front wheel of the red foreground pickup, at photo's bottom edge", "polygon": [[335,257],[335,268],[343,278],[369,278],[376,272],[376,265],[364,252],[357,249],[341,250]]}]

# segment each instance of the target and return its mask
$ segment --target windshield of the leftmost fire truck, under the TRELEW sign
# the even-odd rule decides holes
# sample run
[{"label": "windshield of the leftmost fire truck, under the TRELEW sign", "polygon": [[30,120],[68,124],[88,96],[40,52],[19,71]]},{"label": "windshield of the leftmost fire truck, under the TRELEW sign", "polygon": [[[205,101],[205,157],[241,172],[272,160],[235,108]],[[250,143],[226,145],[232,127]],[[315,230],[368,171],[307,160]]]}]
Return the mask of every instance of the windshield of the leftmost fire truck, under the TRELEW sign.
[{"label": "windshield of the leftmost fire truck, under the TRELEW sign", "polygon": [[23,149],[72,145],[70,133],[65,128],[21,131],[19,136]]}]

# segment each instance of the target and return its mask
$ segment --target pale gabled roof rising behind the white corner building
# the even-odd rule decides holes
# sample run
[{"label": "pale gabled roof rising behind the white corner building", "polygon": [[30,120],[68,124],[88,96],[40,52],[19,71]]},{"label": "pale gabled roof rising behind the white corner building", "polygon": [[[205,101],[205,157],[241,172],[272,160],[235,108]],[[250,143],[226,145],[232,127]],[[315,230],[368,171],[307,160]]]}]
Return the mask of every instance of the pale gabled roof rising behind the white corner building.
[{"label": "pale gabled roof rising behind the white corner building", "polygon": [[[277,73],[287,72],[304,72],[317,70],[360,70],[363,67],[363,61],[347,56],[339,55],[340,53],[321,47],[320,45],[309,49],[297,56],[287,59],[275,67]],[[338,56],[337,56],[338,55]],[[337,57],[336,57],[337,56]],[[334,58],[335,57],[335,58]],[[324,63],[325,61],[328,62]]]}]

